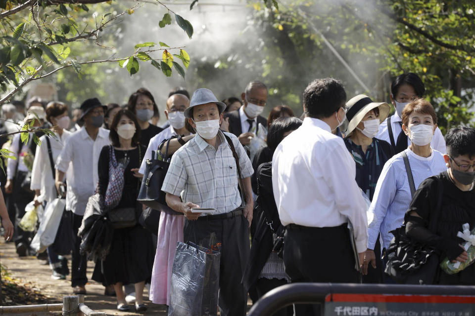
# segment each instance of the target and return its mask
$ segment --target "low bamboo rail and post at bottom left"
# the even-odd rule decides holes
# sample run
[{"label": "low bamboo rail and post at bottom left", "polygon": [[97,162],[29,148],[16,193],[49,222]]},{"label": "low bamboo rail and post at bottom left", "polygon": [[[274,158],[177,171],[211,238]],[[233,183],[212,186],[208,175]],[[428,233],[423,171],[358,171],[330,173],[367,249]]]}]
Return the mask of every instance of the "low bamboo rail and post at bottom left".
[{"label": "low bamboo rail and post at bottom left", "polygon": [[68,316],[106,316],[103,312],[95,312],[84,304],[84,295],[64,296],[63,304],[0,306],[0,315],[22,313],[62,312]]}]

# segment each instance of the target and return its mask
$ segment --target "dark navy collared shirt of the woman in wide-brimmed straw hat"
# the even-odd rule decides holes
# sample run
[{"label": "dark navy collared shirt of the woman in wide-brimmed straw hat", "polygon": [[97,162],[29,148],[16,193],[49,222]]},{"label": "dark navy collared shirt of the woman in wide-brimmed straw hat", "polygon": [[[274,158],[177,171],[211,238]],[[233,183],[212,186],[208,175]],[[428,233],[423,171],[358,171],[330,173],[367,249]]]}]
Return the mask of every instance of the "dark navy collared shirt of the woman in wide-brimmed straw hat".
[{"label": "dark navy collared shirt of the woman in wide-brimmed straw hat", "polygon": [[351,138],[347,137],[343,141],[356,163],[356,183],[372,200],[382,167],[390,157],[386,157],[380,145],[381,141],[376,138],[373,138],[373,142],[368,146],[366,154],[360,145],[353,143]]}]

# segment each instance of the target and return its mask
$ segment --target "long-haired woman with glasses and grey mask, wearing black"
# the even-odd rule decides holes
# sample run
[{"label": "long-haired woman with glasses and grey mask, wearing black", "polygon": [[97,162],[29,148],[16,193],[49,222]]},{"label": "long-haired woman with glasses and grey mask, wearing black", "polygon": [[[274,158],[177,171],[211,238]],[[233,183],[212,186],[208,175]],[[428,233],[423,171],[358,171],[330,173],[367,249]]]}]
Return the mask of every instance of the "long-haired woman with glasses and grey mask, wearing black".
[{"label": "long-haired woman with glasses and grey mask, wearing black", "polygon": [[137,126],[140,127],[140,143],[146,148],[150,139],[163,130],[163,128],[148,122],[154,115],[158,114],[155,100],[150,91],[140,88],[129,97],[127,107],[137,116],[139,122]]}]

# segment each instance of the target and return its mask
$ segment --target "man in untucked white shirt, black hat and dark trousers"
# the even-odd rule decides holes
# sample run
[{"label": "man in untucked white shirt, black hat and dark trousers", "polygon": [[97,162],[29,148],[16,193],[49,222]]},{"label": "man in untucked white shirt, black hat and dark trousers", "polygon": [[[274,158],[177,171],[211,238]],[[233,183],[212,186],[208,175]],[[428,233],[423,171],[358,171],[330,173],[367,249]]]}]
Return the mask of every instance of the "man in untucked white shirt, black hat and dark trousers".
[{"label": "man in untucked white shirt, black hat and dark trousers", "polygon": [[[56,181],[58,192],[68,168],[73,168],[72,179],[68,178],[66,210],[71,216],[73,228],[73,253],[71,263],[71,286],[74,294],[86,294],[86,256],[79,254],[81,238],[78,230],[83,220],[89,197],[94,194],[98,181],[97,163],[102,147],[110,145],[109,131],[100,126],[104,123],[107,107],[96,98],[81,104],[83,127],[74,132],[67,140],[56,160]],[[71,162],[71,165],[70,165]],[[71,181],[72,180],[72,181]]]}]

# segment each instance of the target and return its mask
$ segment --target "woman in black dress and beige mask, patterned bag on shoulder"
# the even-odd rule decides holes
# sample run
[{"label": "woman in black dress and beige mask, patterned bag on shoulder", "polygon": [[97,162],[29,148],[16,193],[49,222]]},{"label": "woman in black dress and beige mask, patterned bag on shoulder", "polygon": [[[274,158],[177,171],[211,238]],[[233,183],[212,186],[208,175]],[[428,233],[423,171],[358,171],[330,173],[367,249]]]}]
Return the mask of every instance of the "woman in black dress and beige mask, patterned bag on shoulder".
[{"label": "woman in black dress and beige mask, patterned bag on shoulder", "polygon": [[[112,152],[117,162],[127,161],[124,171],[124,189],[120,201],[115,208],[135,208],[136,218],[142,207],[137,202],[142,175],[139,167],[146,148],[139,143],[140,129],[135,115],[128,110],[121,110],[112,120],[109,137],[112,141]],[[97,191],[106,195],[109,186],[110,146],[104,146],[99,156]],[[113,284],[117,295],[117,309],[128,311],[123,284],[135,284],[136,311],[145,311],[143,304],[143,287],[150,278],[153,264],[152,237],[142,226],[114,230],[110,251],[104,261],[97,261],[93,279],[107,285]]]}]

